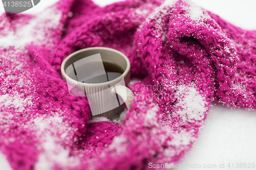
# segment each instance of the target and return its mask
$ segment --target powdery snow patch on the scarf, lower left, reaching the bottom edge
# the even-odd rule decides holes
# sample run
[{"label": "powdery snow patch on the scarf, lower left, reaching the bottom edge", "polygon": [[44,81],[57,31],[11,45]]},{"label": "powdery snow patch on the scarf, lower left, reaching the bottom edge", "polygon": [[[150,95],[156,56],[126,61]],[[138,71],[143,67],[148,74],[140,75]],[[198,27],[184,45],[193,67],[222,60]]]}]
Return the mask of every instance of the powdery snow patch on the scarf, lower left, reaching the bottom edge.
[{"label": "powdery snow patch on the scarf, lower left, reaching the bottom edge", "polygon": [[[67,135],[73,136],[71,128],[63,122],[60,111],[55,112],[54,116],[43,115],[31,120],[33,129],[37,132],[38,138],[40,137],[43,152],[39,155],[39,160],[35,165],[35,169],[51,169],[54,163],[59,163],[63,166],[75,166],[78,159],[69,157],[69,150],[65,149],[59,144],[67,139]],[[63,128],[64,127],[64,128]],[[65,128],[66,127],[66,128]],[[62,134],[62,140],[56,135]],[[68,137],[69,137],[68,136]]]}]

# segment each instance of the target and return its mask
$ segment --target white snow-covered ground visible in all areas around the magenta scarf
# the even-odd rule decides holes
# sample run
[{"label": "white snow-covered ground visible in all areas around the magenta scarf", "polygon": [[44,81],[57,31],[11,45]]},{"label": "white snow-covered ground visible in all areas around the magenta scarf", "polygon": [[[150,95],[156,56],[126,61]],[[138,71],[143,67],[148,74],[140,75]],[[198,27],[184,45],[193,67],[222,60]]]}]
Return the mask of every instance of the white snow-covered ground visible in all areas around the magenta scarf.
[{"label": "white snow-covered ground visible in all areas around the magenta scarf", "polygon": [[[24,13],[35,14],[58,0],[41,0]],[[94,0],[105,6],[120,0]],[[199,6],[220,15],[222,18],[243,29],[256,30],[256,1],[252,0],[193,0]],[[0,4],[0,13],[4,7]],[[256,111],[231,109],[221,104],[211,108],[205,126],[194,147],[181,160],[177,169],[247,169],[240,168],[246,163],[256,164]],[[223,167],[223,163],[225,168]],[[229,164],[230,163],[230,164]],[[232,164],[233,163],[233,164]],[[228,168],[227,165],[230,165]],[[187,166],[185,166],[187,165]],[[216,165],[216,168],[215,166]],[[221,167],[220,167],[221,165]],[[233,167],[232,167],[233,165]],[[208,168],[207,168],[208,166]],[[177,166],[176,166],[177,167]],[[190,168],[189,168],[190,167]],[[238,167],[238,168],[236,168]],[[241,166],[242,167],[242,166]],[[253,166],[250,166],[253,167]],[[9,170],[5,156],[0,153],[0,170]],[[252,168],[248,168],[252,169]]]}]

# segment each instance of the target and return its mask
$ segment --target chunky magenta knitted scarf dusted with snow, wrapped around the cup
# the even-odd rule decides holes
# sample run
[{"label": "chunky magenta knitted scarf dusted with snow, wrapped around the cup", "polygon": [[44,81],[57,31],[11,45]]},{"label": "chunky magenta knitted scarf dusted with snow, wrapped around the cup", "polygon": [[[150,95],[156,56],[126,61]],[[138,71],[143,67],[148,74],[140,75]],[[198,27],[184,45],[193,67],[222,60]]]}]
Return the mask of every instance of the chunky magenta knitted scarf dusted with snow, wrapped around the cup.
[{"label": "chunky magenta knitted scarf dusted with snow, wrapped around the cup", "polygon": [[[131,61],[136,98],[122,123],[90,120],[87,98],[61,79],[63,59],[92,46]],[[171,166],[212,101],[256,108],[256,31],[189,1],[62,0],[38,15],[3,14],[0,53],[0,151],[13,169]]]}]

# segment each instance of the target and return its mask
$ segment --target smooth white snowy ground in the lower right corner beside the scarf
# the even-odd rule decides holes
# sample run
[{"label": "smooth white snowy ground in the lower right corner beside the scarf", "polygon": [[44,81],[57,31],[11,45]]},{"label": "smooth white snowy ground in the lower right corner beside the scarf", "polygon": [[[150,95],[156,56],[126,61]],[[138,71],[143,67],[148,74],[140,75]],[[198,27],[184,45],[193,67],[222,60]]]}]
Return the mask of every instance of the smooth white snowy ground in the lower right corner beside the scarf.
[{"label": "smooth white snowy ground in the lower right corner beside the scarf", "polygon": [[207,169],[228,169],[218,166],[220,163],[225,163],[227,167],[228,163],[255,162],[255,121],[256,111],[230,109],[222,104],[216,104],[210,108],[204,127],[193,148],[180,163],[217,164],[217,168]]}]

